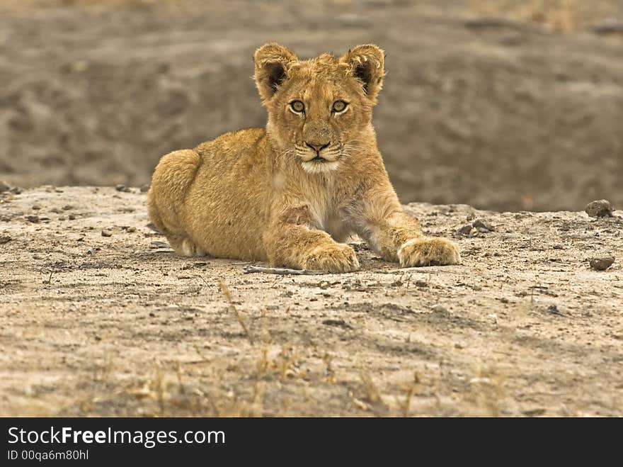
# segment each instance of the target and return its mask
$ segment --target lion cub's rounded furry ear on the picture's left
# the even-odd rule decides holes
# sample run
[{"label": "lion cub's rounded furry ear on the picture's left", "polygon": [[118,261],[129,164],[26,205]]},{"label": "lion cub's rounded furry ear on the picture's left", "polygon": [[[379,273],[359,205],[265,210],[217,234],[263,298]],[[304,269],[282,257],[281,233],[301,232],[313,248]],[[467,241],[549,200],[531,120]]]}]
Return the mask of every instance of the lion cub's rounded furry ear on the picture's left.
[{"label": "lion cub's rounded furry ear on the picture's left", "polygon": [[263,101],[268,101],[287,78],[290,64],[297,56],[287,47],[278,43],[262,45],[253,55],[256,64],[256,86]]}]

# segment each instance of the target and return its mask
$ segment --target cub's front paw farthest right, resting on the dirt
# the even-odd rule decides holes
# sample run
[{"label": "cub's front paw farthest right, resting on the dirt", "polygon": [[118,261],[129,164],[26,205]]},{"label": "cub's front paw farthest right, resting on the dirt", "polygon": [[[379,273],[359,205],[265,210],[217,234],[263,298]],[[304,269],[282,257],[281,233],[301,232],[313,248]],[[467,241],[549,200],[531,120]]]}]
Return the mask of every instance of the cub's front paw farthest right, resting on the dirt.
[{"label": "cub's front paw farthest right, resting on the dirt", "polygon": [[460,264],[461,254],[455,242],[447,238],[420,237],[407,240],[398,249],[404,268],[412,266],[444,266]]}]

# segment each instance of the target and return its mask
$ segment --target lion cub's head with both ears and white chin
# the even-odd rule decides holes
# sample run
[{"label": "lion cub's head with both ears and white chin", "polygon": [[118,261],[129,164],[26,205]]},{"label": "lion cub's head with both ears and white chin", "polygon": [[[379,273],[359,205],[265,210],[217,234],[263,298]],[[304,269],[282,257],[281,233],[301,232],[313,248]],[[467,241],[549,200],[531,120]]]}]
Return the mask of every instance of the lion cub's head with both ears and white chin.
[{"label": "lion cub's head with both ears and white chin", "polygon": [[270,43],[253,58],[267,130],[285,157],[297,157],[309,173],[331,171],[365,143],[384,75],[379,47],[299,60]]}]

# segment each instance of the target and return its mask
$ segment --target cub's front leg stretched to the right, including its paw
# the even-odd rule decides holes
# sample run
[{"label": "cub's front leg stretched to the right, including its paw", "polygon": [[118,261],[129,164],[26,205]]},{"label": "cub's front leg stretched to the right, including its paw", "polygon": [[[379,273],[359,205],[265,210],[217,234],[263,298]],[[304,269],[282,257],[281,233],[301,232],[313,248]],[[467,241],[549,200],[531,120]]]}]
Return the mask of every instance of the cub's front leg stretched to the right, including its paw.
[{"label": "cub's front leg stretched to the right, including its paw", "polygon": [[360,235],[384,259],[403,267],[460,264],[452,240],[426,237],[415,218],[404,212],[393,189],[373,190],[364,197]]}]

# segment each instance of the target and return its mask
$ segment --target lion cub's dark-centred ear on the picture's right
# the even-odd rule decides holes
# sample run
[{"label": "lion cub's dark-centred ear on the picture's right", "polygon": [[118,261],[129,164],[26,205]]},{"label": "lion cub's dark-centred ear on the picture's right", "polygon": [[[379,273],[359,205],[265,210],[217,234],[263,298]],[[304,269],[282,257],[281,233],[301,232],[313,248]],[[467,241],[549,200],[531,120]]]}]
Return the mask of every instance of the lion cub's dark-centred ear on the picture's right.
[{"label": "lion cub's dark-centred ear on the picture's right", "polygon": [[385,74],[383,51],[374,44],[358,45],[348,50],[340,61],[350,65],[353,76],[361,82],[367,98],[376,103]]}]

